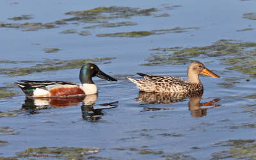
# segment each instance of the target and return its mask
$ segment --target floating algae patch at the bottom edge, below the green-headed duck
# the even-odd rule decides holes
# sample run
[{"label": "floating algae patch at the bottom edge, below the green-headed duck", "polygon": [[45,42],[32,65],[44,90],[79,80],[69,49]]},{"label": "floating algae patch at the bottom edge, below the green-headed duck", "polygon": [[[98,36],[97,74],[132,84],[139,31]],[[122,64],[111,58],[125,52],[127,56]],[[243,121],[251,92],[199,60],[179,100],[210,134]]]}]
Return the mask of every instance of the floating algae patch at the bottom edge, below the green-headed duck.
[{"label": "floating algae patch at the bottom edge, below the green-headed duck", "polygon": [[100,152],[98,148],[80,148],[80,147],[40,147],[29,148],[25,151],[17,152],[19,158],[31,157],[54,157],[57,159],[81,159],[91,154]]}]

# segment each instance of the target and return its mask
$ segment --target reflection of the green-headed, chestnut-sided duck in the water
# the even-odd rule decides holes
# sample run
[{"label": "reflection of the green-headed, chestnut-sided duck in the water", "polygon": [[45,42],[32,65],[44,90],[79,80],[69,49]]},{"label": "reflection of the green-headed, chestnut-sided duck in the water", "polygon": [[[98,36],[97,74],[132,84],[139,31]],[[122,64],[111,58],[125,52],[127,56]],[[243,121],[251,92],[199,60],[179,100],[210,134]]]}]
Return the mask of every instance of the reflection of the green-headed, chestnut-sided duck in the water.
[{"label": "reflection of the green-headed, chestnut-sided duck in the water", "polygon": [[63,107],[63,106],[78,106],[82,102],[81,112],[84,120],[99,120],[104,113],[102,110],[117,107],[117,103],[101,104],[102,108],[94,109],[93,105],[97,100],[98,95],[92,94],[85,97],[77,98],[26,98],[22,104],[22,110],[26,110],[29,114],[36,114],[38,110]]}]

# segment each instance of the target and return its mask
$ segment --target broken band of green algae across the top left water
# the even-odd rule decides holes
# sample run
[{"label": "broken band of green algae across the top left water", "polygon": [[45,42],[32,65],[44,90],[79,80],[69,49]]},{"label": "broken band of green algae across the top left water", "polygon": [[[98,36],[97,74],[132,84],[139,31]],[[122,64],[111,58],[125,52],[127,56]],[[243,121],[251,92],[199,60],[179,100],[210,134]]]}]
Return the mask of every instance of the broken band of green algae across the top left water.
[{"label": "broken band of green algae across the top left water", "polygon": [[[161,10],[170,10],[170,8],[176,8],[179,6],[166,6]],[[0,27],[17,28],[22,31],[37,31],[38,29],[52,29],[60,27],[60,25],[67,25],[68,23],[77,24],[79,23],[97,23],[98,25],[92,25],[85,28],[95,27],[120,27],[128,25],[136,25],[136,22],[108,22],[109,20],[117,18],[131,18],[135,16],[154,16],[154,17],[168,17],[168,13],[157,14],[159,9],[157,8],[132,8],[124,6],[109,6],[109,7],[98,7],[91,10],[83,11],[68,11],[66,15],[72,16],[70,18],[64,18],[56,20],[54,22],[25,22],[25,23],[5,23],[0,22]],[[19,17],[9,18],[10,20],[29,20],[33,18],[32,15],[20,15]],[[180,33],[184,31],[175,31],[174,33]],[[63,31],[61,33],[74,33],[74,31]]]}]

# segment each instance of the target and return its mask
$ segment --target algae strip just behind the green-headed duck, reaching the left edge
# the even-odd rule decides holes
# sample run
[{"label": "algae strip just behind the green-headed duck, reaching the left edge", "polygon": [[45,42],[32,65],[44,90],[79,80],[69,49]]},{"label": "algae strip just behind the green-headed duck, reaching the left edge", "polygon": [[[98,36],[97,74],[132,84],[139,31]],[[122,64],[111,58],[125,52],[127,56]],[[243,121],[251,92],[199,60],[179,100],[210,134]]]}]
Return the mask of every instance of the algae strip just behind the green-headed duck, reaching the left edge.
[{"label": "algae strip just behind the green-headed duck, reaching the left edge", "polygon": [[0,68],[0,74],[9,76],[22,76],[31,73],[40,73],[44,71],[57,71],[65,69],[81,68],[88,62],[108,62],[115,57],[95,58],[95,59],[73,59],[73,60],[60,60],[60,59],[45,59],[45,61],[35,61],[36,65],[26,68]]}]

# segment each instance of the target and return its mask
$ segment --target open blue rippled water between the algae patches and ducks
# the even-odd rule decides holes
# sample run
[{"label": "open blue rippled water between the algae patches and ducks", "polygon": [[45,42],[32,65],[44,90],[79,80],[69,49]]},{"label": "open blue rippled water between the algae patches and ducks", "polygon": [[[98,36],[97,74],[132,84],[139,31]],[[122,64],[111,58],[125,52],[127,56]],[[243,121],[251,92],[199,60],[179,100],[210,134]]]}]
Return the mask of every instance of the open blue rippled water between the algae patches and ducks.
[{"label": "open blue rippled water between the algae patches and ducks", "polygon": [[[211,159],[214,152],[229,150],[228,146],[214,145],[228,140],[255,140],[255,79],[237,80],[232,87],[221,87],[225,78],[247,77],[230,71],[221,64],[220,57],[191,57],[221,78],[200,76],[204,94],[196,98],[168,100],[154,104],[154,96],[147,95],[138,102],[141,94],[126,76],[138,78],[137,72],[155,75],[172,75],[186,78],[187,64],[143,66],[148,57],[159,47],[204,47],[218,40],[255,42],[256,21],[242,18],[244,13],[255,11],[255,1],[1,1],[0,22],[49,23],[63,18],[68,11],[91,10],[99,6],[127,6],[132,8],[157,8],[151,15],[135,15],[130,18],[113,18],[108,22],[136,22],[138,25],[122,27],[96,27],[83,29],[97,23],[68,22],[52,29],[22,31],[23,29],[0,27],[1,60],[18,61],[2,63],[1,68],[29,67],[44,59],[88,59],[115,57],[98,62],[99,68],[118,79],[106,82],[93,78],[99,89],[97,96],[87,99],[37,99],[26,100],[15,85],[10,90],[15,96],[0,99],[0,111],[16,113],[16,117],[1,117],[1,126],[14,129],[1,133],[0,157],[15,156],[16,152],[38,147],[88,147],[99,148],[93,156],[110,159]],[[172,10],[166,9],[168,6]],[[200,9],[198,9],[200,8]],[[168,17],[156,17],[168,13]],[[20,15],[31,15],[29,20],[8,20]],[[181,33],[164,33],[141,38],[100,37],[97,34],[130,31],[152,31],[174,27],[199,27],[185,29]],[[237,32],[239,29],[252,31]],[[74,34],[61,31],[76,29]],[[81,36],[80,31],[91,35]],[[56,53],[45,53],[44,48],[60,48]],[[168,52],[167,52],[168,53]],[[228,55],[226,56],[228,57]],[[20,61],[36,61],[32,64]],[[24,76],[1,74],[1,87],[17,80],[65,80],[79,83],[79,69],[67,69],[32,73]],[[255,97],[255,96],[254,96]],[[147,99],[153,99],[148,102]],[[161,96],[160,96],[161,98]],[[163,96],[162,96],[163,98]],[[213,101],[210,106],[200,103]],[[64,106],[61,107],[61,103]],[[91,102],[91,103],[89,103]],[[58,104],[56,106],[54,104]],[[63,104],[62,104],[63,105]],[[194,108],[193,108],[194,107]],[[196,108],[195,108],[196,107]],[[11,129],[11,130],[12,130]],[[247,145],[247,144],[244,144]],[[253,153],[252,153],[253,154]],[[84,156],[86,157],[86,156]],[[44,157],[38,157],[44,159]],[[48,157],[49,159],[50,157]],[[63,158],[63,157],[62,157]],[[249,157],[244,157],[249,159]],[[54,159],[54,158],[52,158]],[[236,159],[236,157],[229,157]]]}]

